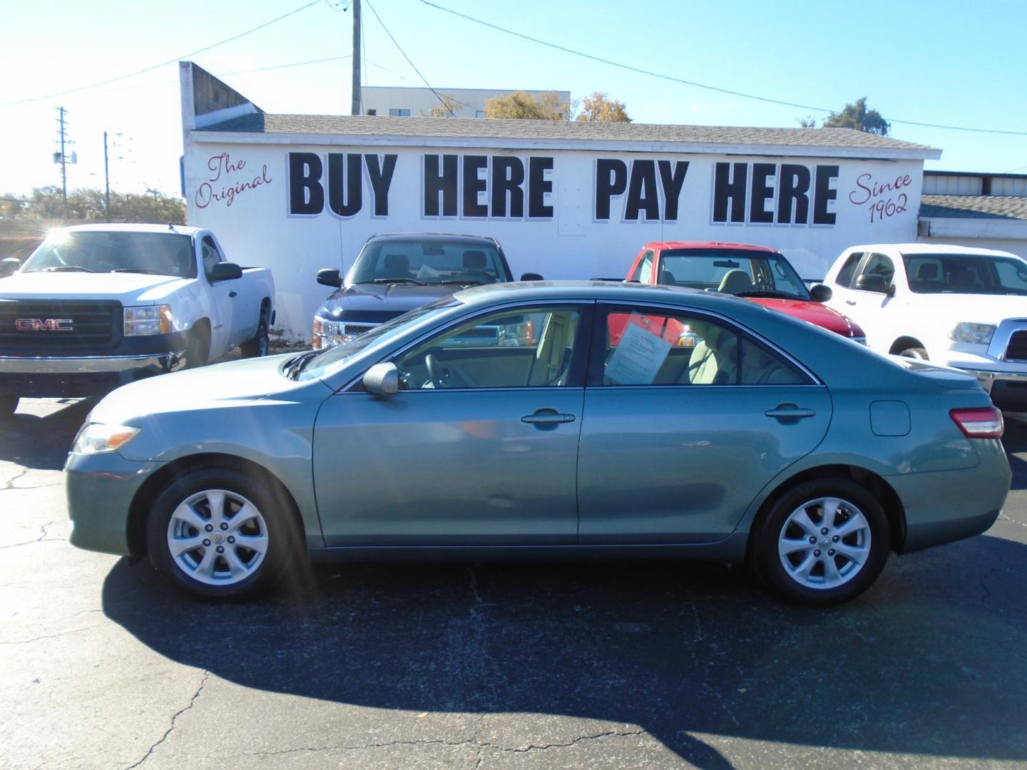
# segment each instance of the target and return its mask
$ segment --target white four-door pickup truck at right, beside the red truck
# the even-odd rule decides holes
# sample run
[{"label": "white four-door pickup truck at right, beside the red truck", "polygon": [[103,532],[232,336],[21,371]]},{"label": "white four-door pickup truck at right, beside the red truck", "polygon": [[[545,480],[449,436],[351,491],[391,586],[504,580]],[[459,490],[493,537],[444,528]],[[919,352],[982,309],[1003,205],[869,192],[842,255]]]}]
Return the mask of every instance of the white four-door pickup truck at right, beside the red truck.
[{"label": "white four-door pickup truck at right, beside the red truck", "polygon": [[1000,409],[1027,410],[1027,261],[939,243],[846,248],[827,303],[863,326],[867,346],[977,376]]}]

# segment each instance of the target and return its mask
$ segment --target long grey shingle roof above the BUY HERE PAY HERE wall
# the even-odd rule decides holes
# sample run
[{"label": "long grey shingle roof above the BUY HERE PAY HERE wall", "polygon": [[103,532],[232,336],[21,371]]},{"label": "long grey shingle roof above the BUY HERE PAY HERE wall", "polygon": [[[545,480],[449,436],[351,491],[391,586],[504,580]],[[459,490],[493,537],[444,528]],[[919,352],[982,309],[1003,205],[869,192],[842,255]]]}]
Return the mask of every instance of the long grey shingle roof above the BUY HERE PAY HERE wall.
[{"label": "long grey shingle roof above the BUY HERE PAY HERE wall", "polygon": [[368,137],[476,138],[534,141],[601,140],[668,144],[838,147],[937,152],[852,128],[760,128],[718,125],[386,117],[383,115],[242,115],[205,127],[207,131],[356,134]]}]

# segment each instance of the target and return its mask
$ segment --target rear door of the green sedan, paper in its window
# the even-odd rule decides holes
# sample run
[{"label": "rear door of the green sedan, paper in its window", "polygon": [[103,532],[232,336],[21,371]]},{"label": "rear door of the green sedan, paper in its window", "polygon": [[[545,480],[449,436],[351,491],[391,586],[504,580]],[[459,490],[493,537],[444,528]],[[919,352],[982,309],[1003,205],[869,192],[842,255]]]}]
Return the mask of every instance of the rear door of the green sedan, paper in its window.
[{"label": "rear door of the green sedan, paper in its window", "polygon": [[[657,315],[690,336],[671,344],[618,319]],[[760,490],[823,438],[827,388],[728,319],[603,304],[596,316],[578,459],[581,544],[724,538]],[[624,329],[617,345],[610,325]]]}]

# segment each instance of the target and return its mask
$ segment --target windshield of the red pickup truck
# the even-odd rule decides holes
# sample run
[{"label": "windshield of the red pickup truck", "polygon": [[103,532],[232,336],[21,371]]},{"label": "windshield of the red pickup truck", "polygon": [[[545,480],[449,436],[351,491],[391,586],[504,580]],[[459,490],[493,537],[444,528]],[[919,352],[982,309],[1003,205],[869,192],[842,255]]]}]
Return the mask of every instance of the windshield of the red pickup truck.
[{"label": "windshield of the red pickup truck", "polygon": [[782,255],[723,248],[663,252],[657,282],[707,288],[737,297],[810,299],[809,290]]}]

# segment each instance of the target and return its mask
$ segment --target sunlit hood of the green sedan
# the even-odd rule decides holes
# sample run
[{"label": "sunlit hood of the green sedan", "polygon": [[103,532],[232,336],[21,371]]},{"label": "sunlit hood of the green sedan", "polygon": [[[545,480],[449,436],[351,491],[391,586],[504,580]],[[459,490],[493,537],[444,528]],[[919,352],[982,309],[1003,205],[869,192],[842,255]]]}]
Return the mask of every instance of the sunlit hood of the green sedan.
[{"label": "sunlit hood of the green sedan", "polygon": [[279,370],[295,355],[243,358],[140,380],[105,396],[88,421],[131,425],[142,415],[228,408],[290,390],[300,383]]}]

